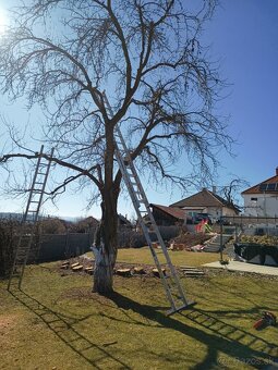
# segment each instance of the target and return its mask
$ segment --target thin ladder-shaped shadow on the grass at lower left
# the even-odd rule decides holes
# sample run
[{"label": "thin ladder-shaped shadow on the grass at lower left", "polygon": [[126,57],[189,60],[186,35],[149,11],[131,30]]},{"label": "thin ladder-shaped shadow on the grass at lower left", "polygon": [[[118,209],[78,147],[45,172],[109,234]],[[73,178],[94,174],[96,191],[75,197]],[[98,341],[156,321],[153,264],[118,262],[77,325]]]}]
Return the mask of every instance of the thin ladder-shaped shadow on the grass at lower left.
[{"label": "thin ladder-shaped shadow on the grass at lower left", "polygon": [[109,354],[100,345],[92,343],[90,340],[73,328],[76,322],[84,320],[84,318],[81,320],[69,320],[69,318],[64,318],[62,314],[52,311],[37,299],[17,288],[10,291],[10,294],[39,317],[67,346],[73,349],[95,369],[104,369],[104,362],[106,360],[109,360],[110,368],[131,369],[123,361]]}]

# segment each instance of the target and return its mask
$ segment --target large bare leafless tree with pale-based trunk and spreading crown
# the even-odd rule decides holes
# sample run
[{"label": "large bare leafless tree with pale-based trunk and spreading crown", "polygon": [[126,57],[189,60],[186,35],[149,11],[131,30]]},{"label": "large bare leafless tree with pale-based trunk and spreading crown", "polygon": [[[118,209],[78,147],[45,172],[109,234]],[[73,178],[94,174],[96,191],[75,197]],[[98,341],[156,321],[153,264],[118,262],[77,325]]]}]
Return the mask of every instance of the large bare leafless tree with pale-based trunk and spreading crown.
[{"label": "large bare leafless tree with pale-based trunk and spreading crown", "polygon": [[[226,124],[215,114],[222,84],[201,45],[215,2],[185,9],[174,0],[33,0],[14,10],[2,38],[2,91],[41,106],[45,139],[56,147],[52,160],[72,171],[52,194],[80,180],[101,198],[94,291],[112,291],[117,258],[122,175],[116,125],[152,182],[186,187],[208,178],[219,147],[229,149]],[[37,155],[23,150],[1,160],[16,156]],[[182,156],[193,164],[190,174],[173,171]]]}]

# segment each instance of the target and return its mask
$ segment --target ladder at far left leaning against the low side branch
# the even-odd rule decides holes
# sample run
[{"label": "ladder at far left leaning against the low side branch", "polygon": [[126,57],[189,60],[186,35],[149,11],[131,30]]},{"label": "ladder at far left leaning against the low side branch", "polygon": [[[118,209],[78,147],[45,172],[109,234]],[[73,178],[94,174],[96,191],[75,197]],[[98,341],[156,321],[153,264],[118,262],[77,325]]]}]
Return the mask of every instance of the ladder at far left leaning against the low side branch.
[{"label": "ladder at far left leaning against the low side branch", "polygon": [[[36,260],[39,252],[38,247],[33,246],[33,239],[51,165],[53,148],[51,149],[50,160],[45,159],[43,157],[43,153],[44,145],[40,148],[35,174],[29,189],[26,210],[21,222],[21,232],[19,235],[13,266],[10,273],[8,291],[10,291],[12,287],[21,288],[22,279],[27,261],[31,257]],[[29,230],[27,230],[26,225],[29,226]]]}]

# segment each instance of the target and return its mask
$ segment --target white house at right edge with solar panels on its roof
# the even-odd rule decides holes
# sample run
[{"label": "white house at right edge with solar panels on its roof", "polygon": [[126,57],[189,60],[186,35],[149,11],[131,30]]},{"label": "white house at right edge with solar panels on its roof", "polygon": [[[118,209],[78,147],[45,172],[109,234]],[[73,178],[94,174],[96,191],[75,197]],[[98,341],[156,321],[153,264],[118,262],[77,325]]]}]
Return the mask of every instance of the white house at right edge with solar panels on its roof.
[{"label": "white house at right edge with solar panels on its roof", "polygon": [[278,168],[273,177],[264,180],[241,193],[244,215],[278,217]]}]

